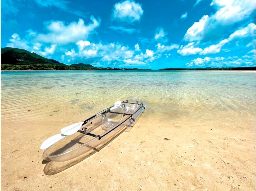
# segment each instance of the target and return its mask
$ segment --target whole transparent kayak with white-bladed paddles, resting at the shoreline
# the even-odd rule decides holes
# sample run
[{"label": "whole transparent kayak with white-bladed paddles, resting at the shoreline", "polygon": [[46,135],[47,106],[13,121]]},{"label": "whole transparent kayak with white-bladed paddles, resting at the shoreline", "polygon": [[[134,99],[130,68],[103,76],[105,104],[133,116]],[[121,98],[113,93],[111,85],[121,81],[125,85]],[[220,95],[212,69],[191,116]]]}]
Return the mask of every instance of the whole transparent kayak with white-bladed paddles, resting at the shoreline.
[{"label": "whole transparent kayak with white-bladed paddles, resting at the shoreline", "polygon": [[[65,135],[64,133],[54,135],[55,137],[52,136],[55,143],[51,143],[52,145],[50,144],[45,149],[43,153],[44,160],[64,162],[80,155],[90,155],[95,149],[102,147],[123,131],[129,131],[146,106],[147,104],[141,100],[130,97],[126,101],[116,102],[109,108],[84,120],[81,124],[74,124],[76,126],[80,124],[81,126],[77,131],[72,127],[75,129],[74,134]],[[69,129],[65,132],[70,132],[71,130]]]}]

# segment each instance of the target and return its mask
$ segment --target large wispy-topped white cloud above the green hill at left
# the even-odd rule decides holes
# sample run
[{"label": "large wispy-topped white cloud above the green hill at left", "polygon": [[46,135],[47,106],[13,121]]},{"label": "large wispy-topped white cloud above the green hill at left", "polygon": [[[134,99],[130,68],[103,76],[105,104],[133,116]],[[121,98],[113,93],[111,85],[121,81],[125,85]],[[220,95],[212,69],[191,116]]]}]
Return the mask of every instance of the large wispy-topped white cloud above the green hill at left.
[{"label": "large wispy-topped white cloud above the green hill at left", "polygon": [[65,25],[62,21],[52,21],[47,29],[48,34],[38,34],[36,40],[39,42],[54,43],[54,44],[68,44],[77,42],[82,39],[87,39],[92,31],[100,26],[100,21],[91,16],[91,23],[84,24],[83,19],[78,22],[71,22]]}]

